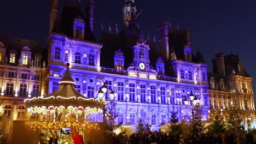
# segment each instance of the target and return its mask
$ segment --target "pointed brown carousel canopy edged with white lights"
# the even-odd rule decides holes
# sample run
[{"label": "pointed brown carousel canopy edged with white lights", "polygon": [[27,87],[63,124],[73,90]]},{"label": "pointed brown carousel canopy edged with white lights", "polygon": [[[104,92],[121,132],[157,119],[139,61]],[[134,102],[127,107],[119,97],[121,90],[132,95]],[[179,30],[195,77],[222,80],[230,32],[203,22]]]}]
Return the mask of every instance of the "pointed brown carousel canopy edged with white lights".
[{"label": "pointed brown carousel canopy edged with white lights", "polygon": [[80,94],[74,87],[75,82],[73,81],[70,71],[69,63],[67,63],[67,70],[59,82],[60,87],[53,93],[46,95],[46,97],[33,97],[26,99],[27,107],[83,107],[84,109],[102,109],[103,105],[98,99],[85,98]]}]

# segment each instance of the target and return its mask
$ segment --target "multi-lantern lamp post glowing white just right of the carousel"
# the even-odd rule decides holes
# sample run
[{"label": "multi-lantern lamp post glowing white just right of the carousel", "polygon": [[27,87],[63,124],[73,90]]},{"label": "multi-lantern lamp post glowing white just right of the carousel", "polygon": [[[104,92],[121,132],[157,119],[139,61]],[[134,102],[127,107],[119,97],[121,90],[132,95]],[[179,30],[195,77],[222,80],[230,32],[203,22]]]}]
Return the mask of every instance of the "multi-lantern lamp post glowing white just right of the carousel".
[{"label": "multi-lantern lamp post glowing white just right of the carousel", "polygon": [[107,86],[105,85],[105,83],[103,84],[103,86],[100,88],[100,90],[98,91],[98,99],[100,99],[101,104],[103,105],[103,122],[105,122],[105,115],[106,115],[106,105],[108,105],[109,103],[112,103],[112,100],[114,99],[114,91],[112,89],[110,89],[109,91],[109,98],[110,98],[110,102],[106,103],[105,101],[105,95],[107,92]]}]

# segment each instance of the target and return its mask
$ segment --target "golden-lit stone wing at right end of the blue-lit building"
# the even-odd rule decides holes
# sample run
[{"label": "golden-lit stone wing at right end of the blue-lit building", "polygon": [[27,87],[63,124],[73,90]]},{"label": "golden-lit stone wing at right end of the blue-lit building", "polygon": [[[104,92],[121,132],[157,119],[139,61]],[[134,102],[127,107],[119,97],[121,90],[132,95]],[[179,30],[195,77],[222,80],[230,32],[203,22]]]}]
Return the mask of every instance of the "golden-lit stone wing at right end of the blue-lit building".
[{"label": "golden-lit stone wing at right end of the blue-lit building", "polygon": [[255,120],[252,77],[247,74],[237,55],[217,53],[209,74],[211,110],[223,111],[228,118],[230,104],[241,110],[243,121]]}]

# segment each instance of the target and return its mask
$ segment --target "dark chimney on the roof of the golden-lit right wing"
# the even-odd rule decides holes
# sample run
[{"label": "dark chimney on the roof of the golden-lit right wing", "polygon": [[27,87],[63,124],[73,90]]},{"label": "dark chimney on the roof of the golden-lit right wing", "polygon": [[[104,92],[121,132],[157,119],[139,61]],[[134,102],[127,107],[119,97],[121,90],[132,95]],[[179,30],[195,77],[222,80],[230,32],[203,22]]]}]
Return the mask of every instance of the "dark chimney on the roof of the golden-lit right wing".
[{"label": "dark chimney on the roof of the golden-lit right wing", "polygon": [[216,65],[217,65],[217,73],[220,77],[225,76],[225,63],[224,63],[224,53],[220,52],[215,55],[216,57]]}]

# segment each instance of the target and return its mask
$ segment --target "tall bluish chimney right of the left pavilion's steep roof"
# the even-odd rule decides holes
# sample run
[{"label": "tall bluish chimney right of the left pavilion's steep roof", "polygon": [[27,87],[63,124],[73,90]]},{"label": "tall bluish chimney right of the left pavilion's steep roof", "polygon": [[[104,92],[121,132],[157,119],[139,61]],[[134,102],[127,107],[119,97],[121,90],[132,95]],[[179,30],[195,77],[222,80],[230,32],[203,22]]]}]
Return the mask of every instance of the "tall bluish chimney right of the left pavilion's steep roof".
[{"label": "tall bluish chimney right of the left pavilion's steep roof", "polygon": [[88,4],[85,8],[86,14],[86,25],[90,26],[91,31],[94,31],[94,8],[95,8],[95,1],[89,0]]}]

